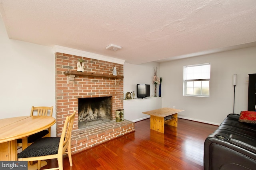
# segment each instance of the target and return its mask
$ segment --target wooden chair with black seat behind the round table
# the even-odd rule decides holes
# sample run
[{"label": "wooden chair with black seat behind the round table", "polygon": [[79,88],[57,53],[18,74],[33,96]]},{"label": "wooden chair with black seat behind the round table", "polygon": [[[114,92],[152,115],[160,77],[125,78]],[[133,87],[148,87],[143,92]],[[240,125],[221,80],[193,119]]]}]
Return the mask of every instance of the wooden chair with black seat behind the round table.
[{"label": "wooden chair with black seat behind the round table", "polygon": [[[32,106],[30,116],[52,116],[53,112],[53,106],[52,107],[46,107],[46,106],[40,106],[40,107],[34,107]],[[27,146],[31,145],[34,141],[37,139],[40,139],[42,137],[50,137],[51,136],[51,127],[48,129],[45,129],[43,131],[40,131],[38,133],[35,133],[33,135],[30,135],[28,137],[25,137],[23,139],[18,139],[17,144],[18,147],[22,147],[22,150],[24,150]]]}]

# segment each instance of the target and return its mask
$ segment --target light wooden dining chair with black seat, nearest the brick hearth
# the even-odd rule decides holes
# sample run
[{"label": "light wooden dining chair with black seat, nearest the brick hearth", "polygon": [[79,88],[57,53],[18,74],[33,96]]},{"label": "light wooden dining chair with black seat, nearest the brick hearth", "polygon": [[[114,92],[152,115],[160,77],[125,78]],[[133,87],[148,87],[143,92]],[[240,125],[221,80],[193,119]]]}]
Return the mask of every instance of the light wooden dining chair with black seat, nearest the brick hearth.
[{"label": "light wooden dining chair with black seat, nearest the brick hearth", "polygon": [[38,139],[18,154],[18,160],[38,161],[38,170],[40,170],[41,160],[57,158],[58,167],[50,168],[50,170],[63,170],[63,154],[67,153],[69,164],[72,166],[71,131],[75,114],[76,111],[74,111],[72,115],[66,117],[61,137],[44,137]]}]

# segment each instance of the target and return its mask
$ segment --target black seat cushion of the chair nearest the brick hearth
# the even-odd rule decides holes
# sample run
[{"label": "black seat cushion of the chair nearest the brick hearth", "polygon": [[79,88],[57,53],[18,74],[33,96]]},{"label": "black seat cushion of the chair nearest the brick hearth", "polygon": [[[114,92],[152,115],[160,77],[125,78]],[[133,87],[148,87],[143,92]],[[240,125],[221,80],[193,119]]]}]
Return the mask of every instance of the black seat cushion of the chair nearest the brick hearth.
[{"label": "black seat cushion of the chair nearest the brick hearth", "polygon": [[60,137],[40,138],[18,154],[18,158],[29,158],[57,154]]}]

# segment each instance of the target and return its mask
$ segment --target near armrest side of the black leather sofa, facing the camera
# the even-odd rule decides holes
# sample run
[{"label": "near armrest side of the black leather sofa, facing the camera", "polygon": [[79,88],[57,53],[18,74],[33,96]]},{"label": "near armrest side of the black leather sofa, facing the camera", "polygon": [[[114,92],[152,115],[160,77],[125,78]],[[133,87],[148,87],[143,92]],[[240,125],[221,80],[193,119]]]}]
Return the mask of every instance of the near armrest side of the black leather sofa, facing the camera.
[{"label": "near armrest side of the black leather sofa, facing the camera", "polygon": [[[255,145],[246,146],[247,149],[244,149],[240,147],[241,143],[239,146],[233,144],[238,143],[238,138],[234,135],[230,135],[231,137],[223,135],[213,133],[206,138],[204,142],[204,170],[245,169],[244,167],[255,169],[256,154],[252,152],[252,150],[256,150]],[[223,136],[223,139],[218,138],[218,136]]]}]

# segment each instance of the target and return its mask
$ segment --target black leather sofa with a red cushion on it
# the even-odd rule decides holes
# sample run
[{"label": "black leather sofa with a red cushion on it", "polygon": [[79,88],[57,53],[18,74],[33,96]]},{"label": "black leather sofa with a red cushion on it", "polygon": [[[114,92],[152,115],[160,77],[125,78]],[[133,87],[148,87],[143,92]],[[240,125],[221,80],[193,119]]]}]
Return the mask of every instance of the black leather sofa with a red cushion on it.
[{"label": "black leather sofa with a red cushion on it", "polygon": [[256,124],[229,114],[204,142],[204,170],[256,170]]}]

